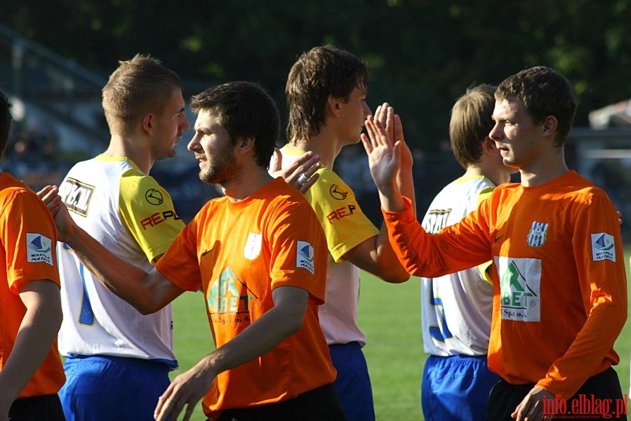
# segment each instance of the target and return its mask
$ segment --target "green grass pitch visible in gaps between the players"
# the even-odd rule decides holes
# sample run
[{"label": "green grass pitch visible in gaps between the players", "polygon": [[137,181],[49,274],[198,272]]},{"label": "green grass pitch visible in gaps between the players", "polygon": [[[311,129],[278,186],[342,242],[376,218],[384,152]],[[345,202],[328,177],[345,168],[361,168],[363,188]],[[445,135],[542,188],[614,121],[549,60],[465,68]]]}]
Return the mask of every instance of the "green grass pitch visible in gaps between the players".
[{"label": "green grass pitch visible in gaps between the players", "polygon": [[[625,253],[625,264],[628,255]],[[180,370],[186,370],[213,349],[213,342],[201,293],[185,293],[173,305],[175,354],[180,359]],[[392,285],[363,274],[359,324],[368,339],[364,354],[371,373],[377,420],[423,420],[420,376],[425,354],[420,333],[418,279]],[[620,355],[616,371],[623,393],[628,393],[630,323],[618,338],[616,351]],[[173,377],[177,373],[180,371],[174,372]],[[206,420],[199,403],[192,420]]]}]

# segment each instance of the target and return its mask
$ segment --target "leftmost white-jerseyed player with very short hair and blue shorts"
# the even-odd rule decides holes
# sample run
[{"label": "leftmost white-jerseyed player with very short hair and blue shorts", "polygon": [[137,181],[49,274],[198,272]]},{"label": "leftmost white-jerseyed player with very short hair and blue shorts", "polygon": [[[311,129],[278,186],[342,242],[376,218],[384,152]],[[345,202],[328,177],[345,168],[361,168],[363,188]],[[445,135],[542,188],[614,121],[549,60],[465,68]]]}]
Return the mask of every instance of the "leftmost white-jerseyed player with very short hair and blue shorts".
[{"label": "leftmost white-jerseyed player with very short hair and blue shorts", "polygon": [[[77,163],[60,196],[77,225],[122,260],[149,271],[184,223],[150,170],[175,154],[184,114],[180,78],[158,60],[121,61],[102,91],[111,140]],[[67,420],[153,420],[158,397],[178,367],[171,307],[146,316],[103,287],[72,249],[58,243],[64,320],[59,349]]]}]

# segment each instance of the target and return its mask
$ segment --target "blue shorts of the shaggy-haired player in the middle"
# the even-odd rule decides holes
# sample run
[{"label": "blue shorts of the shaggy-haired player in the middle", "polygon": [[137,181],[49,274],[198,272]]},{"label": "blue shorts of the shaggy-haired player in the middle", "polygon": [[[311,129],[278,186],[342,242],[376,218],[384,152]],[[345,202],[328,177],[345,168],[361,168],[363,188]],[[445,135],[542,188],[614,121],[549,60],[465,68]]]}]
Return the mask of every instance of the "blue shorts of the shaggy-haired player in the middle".
[{"label": "blue shorts of the shaggy-haired player in the middle", "polygon": [[328,346],[338,377],[333,388],[338,392],[347,420],[374,421],[373,389],[368,366],[358,342]]}]

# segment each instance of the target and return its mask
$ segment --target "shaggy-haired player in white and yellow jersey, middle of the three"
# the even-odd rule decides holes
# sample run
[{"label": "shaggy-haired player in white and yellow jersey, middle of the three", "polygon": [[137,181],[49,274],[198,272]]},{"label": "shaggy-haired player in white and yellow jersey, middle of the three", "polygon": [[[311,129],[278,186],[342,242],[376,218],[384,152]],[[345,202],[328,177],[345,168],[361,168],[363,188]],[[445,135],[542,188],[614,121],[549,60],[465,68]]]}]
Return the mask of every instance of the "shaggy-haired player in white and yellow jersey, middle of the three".
[{"label": "shaggy-haired player in white and yellow jersey, middle of the three", "polygon": [[[319,319],[338,371],[333,387],[347,419],[354,421],[375,419],[361,352],[366,337],[357,324],[359,269],[388,282],[409,279],[392,253],[387,232],[368,220],[352,189],[332,169],[340,150],[359,142],[364,118],[371,114],[366,105],[367,79],[364,62],[347,51],[321,46],[300,55],[286,83],[289,143],[281,149],[283,166],[309,152],[321,157],[319,178],[306,193],[324,228],[329,251],[326,300]],[[385,122],[386,107],[378,114]],[[392,113],[390,117],[392,121]],[[270,168],[276,166],[272,159]],[[411,173],[411,159],[406,169]]]}]

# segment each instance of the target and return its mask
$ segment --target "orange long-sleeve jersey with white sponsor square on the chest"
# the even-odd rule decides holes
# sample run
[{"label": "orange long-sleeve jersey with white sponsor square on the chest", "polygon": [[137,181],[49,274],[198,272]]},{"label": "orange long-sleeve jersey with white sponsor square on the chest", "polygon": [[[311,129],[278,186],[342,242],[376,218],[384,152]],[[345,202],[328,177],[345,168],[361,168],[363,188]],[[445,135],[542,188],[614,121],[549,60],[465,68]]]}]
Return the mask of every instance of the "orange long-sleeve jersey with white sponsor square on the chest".
[{"label": "orange long-sleeve jersey with white sponsor square on the chest", "polygon": [[602,189],[575,171],[536,187],[500,185],[434,235],[409,200],[406,207],[383,214],[410,274],[435,277],[493,260],[491,370],[569,399],[618,363],[626,274],[616,209]]}]

